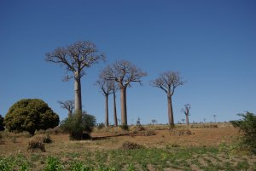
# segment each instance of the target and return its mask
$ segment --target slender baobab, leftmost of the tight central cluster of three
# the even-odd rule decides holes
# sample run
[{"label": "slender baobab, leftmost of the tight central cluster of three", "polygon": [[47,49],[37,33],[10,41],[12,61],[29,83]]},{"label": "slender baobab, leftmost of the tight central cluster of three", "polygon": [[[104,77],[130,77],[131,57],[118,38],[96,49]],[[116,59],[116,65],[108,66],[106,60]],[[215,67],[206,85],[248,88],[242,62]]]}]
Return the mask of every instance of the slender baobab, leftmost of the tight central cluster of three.
[{"label": "slender baobab, leftmost of the tight central cluster of three", "polygon": [[108,95],[113,94],[113,81],[100,77],[95,85],[101,89],[102,94],[105,96],[105,126],[108,127]]}]

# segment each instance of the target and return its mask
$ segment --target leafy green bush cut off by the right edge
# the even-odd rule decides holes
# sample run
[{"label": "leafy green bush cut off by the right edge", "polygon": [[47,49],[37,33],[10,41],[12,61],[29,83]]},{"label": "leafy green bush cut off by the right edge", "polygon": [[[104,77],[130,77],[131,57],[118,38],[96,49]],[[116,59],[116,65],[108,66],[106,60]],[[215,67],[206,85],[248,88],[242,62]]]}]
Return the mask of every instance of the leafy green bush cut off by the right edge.
[{"label": "leafy green bush cut off by the right edge", "polygon": [[239,114],[239,116],[243,117],[243,119],[231,121],[230,123],[235,128],[239,128],[244,134],[243,145],[247,145],[250,151],[256,154],[256,116],[248,111],[246,114]]}]

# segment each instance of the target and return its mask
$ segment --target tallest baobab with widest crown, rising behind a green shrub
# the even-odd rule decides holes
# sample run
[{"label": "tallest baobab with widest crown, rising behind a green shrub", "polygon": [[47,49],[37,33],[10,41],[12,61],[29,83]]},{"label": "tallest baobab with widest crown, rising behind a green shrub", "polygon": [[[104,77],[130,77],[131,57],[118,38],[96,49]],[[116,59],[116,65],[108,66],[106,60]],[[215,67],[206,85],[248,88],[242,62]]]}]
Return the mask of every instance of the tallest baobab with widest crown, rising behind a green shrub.
[{"label": "tallest baobab with widest crown, rising behind a green shrub", "polygon": [[[99,60],[104,60],[105,55],[99,53],[94,43],[81,41],[67,47],[55,48],[53,52],[46,54],[46,61],[66,66],[67,76],[63,81],[74,79],[75,111],[82,111],[81,77],[85,68],[90,68]],[[71,72],[71,75],[68,74]]]}]

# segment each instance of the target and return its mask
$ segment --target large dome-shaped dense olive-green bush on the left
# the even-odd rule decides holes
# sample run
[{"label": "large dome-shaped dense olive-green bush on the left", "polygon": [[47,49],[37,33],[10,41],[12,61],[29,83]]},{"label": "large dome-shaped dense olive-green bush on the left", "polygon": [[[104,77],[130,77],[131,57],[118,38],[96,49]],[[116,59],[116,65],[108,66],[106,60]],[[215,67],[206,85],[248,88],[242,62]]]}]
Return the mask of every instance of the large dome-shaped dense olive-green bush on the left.
[{"label": "large dome-shaped dense olive-green bush on the left", "polygon": [[36,130],[58,126],[59,116],[43,100],[26,99],[9,108],[4,124],[10,132],[35,134]]}]

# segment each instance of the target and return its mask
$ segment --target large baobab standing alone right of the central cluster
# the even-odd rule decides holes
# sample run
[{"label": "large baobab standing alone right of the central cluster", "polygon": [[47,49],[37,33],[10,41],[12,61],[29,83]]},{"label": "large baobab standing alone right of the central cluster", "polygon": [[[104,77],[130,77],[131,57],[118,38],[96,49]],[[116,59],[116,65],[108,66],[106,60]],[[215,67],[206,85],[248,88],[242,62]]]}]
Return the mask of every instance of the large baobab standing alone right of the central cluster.
[{"label": "large baobab standing alone right of the central cluster", "polygon": [[176,71],[166,71],[161,73],[159,77],[157,77],[151,85],[156,88],[160,88],[164,90],[167,94],[167,101],[168,101],[168,119],[169,124],[174,126],[174,118],[173,118],[173,111],[172,111],[172,95],[174,94],[174,90],[183,85],[184,82],[182,81],[179,73]]}]

